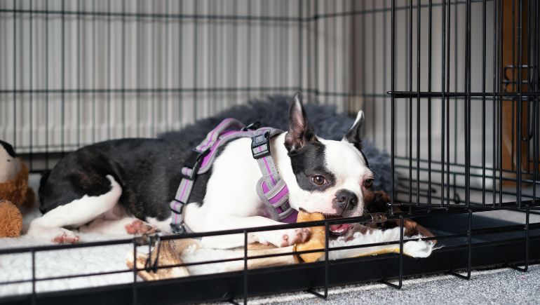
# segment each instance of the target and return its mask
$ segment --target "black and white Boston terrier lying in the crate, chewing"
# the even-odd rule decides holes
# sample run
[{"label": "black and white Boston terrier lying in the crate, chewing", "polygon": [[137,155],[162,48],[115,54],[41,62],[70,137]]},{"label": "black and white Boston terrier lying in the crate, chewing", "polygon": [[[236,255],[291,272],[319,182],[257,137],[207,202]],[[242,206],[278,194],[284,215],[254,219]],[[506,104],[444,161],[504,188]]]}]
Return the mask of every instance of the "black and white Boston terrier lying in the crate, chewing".
[{"label": "black and white Boston terrier lying in the crate, chewing", "polygon": [[[374,174],[360,151],[362,111],[342,141],[324,140],[311,127],[299,94],[293,97],[286,133],[271,138],[272,158],[289,189],[295,210],[327,217],[363,215],[364,192]],[[263,217],[264,205],[255,188],[261,177],[252,158],[249,138],[229,142],[212,169],[196,179],[184,222],[196,232],[280,224]],[[170,231],[170,201],[180,184],[186,154],[175,142],[160,139],[111,140],[67,155],[41,179],[43,216],[29,227],[29,236],[58,243],[79,240],[76,231],[128,231],[152,228]],[[330,227],[337,235],[351,226]],[[278,247],[309,238],[309,229],[253,233],[252,241]],[[243,245],[237,235],[203,238],[214,248]]]}]

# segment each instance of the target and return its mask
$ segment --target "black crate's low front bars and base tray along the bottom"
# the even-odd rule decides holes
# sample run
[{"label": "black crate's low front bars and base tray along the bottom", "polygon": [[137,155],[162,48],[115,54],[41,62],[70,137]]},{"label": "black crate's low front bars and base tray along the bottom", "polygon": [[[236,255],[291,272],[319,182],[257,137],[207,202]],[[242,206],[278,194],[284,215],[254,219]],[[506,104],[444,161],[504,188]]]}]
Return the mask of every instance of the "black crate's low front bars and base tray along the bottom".
[{"label": "black crate's low front bars and base tray along the bottom", "polygon": [[[424,259],[412,259],[403,254],[400,255],[377,255],[359,257],[351,259],[325,260],[311,264],[293,264],[289,266],[276,266],[270,268],[249,269],[248,262],[252,259],[264,257],[276,257],[290,255],[291,253],[279,253],[272,255],[248,256],[247,250],[244,255],[232,259],[217,259],[212,261],[201,261],[187,264],[158,266],[158,259],[149,259],[144,268],[133,267],[132,269],[121,269],[107,272],[95,272],[85,274],[74,274],[69,276],[50,276],[37,278],[35,269],[39,267],[39,262],[35,260],[36,255],[43,251],[60,251],[75,248],[104,247],[107,245],[126,244],[132,245],[133,250],[137,247],[147,247],[147,243],[161,243],[166,240],[177,240],[180,238],[199,238],[203,236],[216,236],[231,233],[247,234],[254,231],[265,231],[271,229],[283,229],[290,227],[305,227],[324,225],[328,233],[328,226],[335,223],[345,222],[369,222],[371,217],[356,217],[349,219],[339,219],[334,221],[324,220],[318,222],[305,222],[303,224],[285,224],[273,227],[262,227],[252,229],[237,229],[229,231],[217,231],[208,233],[187,233],[184,236],[142,236],[128,240],[110,240],[94,243],[79,243],[73,245],[47,245],[31,248],[13,248],[0,250],[0,255],[13,255],[17,253],[32,254],[32,277],[25,280],[8,281],[2,285],[17,283],[31,283],[32,293],[14,295],[3,298],[7,304],[28,304],[28,303],[50,303],[72,304],[77,301],[83,304],[95,304],[95,302],[121,303],[121,304],[160,304],[167,303],[193,303],[198,301],[230,301],[235,303],[237,299],[244,302],[250,296],[261,294],[306,291],[318,297],[328,297],[328,289],[334,285],[346,285],[367,280],[379,280],[391,287],[400,288],[403,285],[403,278],[406,276],[417,276],[429,273],[450,273],[457,278],[468,279],[471,277],[471,270],[492,268],[494,266],[513,266],[516,269],[526,271],[528,264],[539,262],[540,260],[540,226],[532,224],[530,230],[534,236],[527,239],[521,237],[522,226],[511,222],[494,222],[487,217],[473,217],[473,212],[431,212],[407,215],[407,217],[430,217],[431,220],[439,221],[441,217],[445,222],[463,223],[461,229],[457,226],[433,226],[440,230],[440,234],[433,238],[443,240],[445,246],[433,252],[430,257]],[[391,217],[392,218],[392,217]],[[393,218],[399,219],[401,230],[403,231],[403,215],[396,215]],[[473,226],[473,218],[475,218]],[[497,226],[493,226],[497,225]],[[446,233],[442,233],[447,230]],[[329,236],[329,234],[326,234]],[[403,236],[403,235],[402,235]],[[395,242],[384,244],[398,244],[403,250],[404,238]],[[380,243],[379,243],[380,244]],[[379,244],[365,244],[349,246],[350,248],[366,248]],[[247,249],[247,248],[245,248]],[[520,249],[520,250],[516,250]],[[526,251],[522,249],[527,249]],[[306,250],[307,252],[325,252],[328,257],[332,251],[343,250],[342,248],[328,248],[328,238],[326,246],[320,250]],[[302,254],[302,251],[292,252]],[[527,253],[526,256],[523,254]],[[135,253],[135,252],[134,252]],[[403,253],[400,252],[400,253]],[[139,271],[157,271],[177,266],[189,266],[196,264],[217,264],[233,261],[243,262],[242,271],[226,273],[210,273],[201,276],[188,276],[185,278],[174,278],[170,280],[160,280],[156,282],[139,282],[136,280]],[[516,264],[525,264],[524,269]],[[146,264],[145,264],[146,265]],[[458,271],[461,271],[461,274]],[[100,276],[113,273],[133,274],[133,283],[118,285],[101,285],[99,287],[88,287],[76,290],[59,290],[52,292],[36,293],[36,285],[48,280],[59,280],[63,278],[81,278],[89,276]],[[393,280],[395,279],[395,280]],[[389,281],[393,280],[393,281]],[[393,282],[396,283],[393,283]],[[263,285],[264,283],[264,285]],[[181,296],[181,297],[179,297]]]}]

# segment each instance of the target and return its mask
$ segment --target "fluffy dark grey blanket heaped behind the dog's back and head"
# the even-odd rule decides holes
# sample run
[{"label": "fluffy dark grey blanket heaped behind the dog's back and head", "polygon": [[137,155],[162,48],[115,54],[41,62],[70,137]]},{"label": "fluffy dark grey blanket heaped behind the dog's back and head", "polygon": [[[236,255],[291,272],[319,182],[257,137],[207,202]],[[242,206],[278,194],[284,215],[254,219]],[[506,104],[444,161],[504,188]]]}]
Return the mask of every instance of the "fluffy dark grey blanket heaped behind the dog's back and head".
[{"label": "fluffy dark grey blanket heaped behind the dog's back and head", "polygon": [[[283,95],[267,97],[264,100],[250,100],[247,104],[232,107],[216,116],[197,121],[180,131],[163,133],[159,137],[182,143],[183,150],[188,154],[224,118],[236,118],[245,124],[259,121],[262,126],[287,130],[289,102],[290,97]],[[305,104],[304,108],[317,135],[325,139],[341,140],[347,130],[353,126],[354,118],[338,113],[335,105]],[[366,118],[366,120],[369,119]],[[390,194],[392,181],[390,156],[379,151],[368,140],[363,140],[362,151],[376,175],[373,189],[383,190]]]}]

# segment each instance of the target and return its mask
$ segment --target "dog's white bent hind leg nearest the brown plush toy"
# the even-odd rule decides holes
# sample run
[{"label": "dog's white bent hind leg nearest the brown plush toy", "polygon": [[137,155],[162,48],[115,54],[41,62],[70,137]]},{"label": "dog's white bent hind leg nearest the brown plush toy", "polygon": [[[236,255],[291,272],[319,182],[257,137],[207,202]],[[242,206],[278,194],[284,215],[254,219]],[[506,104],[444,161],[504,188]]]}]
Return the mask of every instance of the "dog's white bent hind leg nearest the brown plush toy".
[{"label": "dog's white bent hind leg nearest the brown plush toy", "polygon": [[79,236],[74,231],[64,229],[77,228],[88,224],[96,217],[114,208],[122,194],[120,184],[114,177],[107,175],[111,189],[100,196],[83,196],[65,205],[59,205],[34,219],[28,229],[28,236],[53,240],[55,243],[76,243]]}]

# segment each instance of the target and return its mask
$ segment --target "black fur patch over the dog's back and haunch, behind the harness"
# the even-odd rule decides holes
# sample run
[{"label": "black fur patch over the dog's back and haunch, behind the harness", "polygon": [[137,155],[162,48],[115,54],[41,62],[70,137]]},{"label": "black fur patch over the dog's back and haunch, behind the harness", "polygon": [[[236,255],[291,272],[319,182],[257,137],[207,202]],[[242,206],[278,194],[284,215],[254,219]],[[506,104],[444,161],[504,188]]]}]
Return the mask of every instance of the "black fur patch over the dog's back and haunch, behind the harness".
[{"label": "black fur patch over the dog's back and haunch, behind the harness", "polygon": [[187,153],[158,139],[110,140],[83,147],[65,156],[42,179],[40,210],[45,213],[84,195],[107,193],[111,184],[106,176],[112,175],[121,185],[123,208],[140,219],[166,219]]}]

